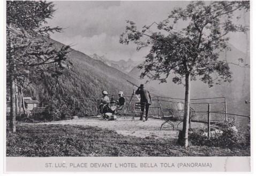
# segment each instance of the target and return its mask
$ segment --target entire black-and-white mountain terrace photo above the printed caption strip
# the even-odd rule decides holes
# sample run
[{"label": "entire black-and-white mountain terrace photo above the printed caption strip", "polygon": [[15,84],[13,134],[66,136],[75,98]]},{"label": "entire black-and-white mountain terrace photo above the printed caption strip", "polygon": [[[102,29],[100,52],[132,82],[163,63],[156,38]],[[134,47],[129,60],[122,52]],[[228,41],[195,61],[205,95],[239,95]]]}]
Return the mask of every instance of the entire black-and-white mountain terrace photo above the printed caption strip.
[{"label": "entire black-and-white mountain terrace photo above the printed caption strip", "polygon": [[6,1],[6,157],[251,156],[250,1]]}]

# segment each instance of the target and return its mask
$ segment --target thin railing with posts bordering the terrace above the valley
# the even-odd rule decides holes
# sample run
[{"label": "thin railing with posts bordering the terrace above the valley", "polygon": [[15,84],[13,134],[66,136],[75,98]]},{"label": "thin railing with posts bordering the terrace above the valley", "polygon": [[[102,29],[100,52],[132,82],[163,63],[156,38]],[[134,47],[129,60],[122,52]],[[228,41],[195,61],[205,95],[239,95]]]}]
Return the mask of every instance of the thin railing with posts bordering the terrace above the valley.
[{"label": "thin railing with posts bordering the terrace above the valley", "polygon": [[[117,95],[109,95],[110,99],[117,100]],[[131,96],[124,96],[126,103],[125,109],[129,106],[129,101]],[[85,111],[84,114],[87,115],[99,115],[99,104],[101,97],[89,97],[89,98],[76,98],[74,97],[74,110],[75,111]],[[177,110],[178,103],[184,103],[184,99],[179,98],[170,98],[170,97],[152,97],[152,105],[149,107],[149,117],[161,118],[161,106],[164,108],[170,108],[175,112],[175,118],[180,121],[183,120],[183,116],[180,117],[180,111]],[[130,112],[132,112],[132,107],[130,106]],[[236,119],[236,125],[238,126],[238,133],[245,133],[243,129],[246,129],[248,124],[245,119],[240,119],[240,117],[247,117],[250,119],[250,116],[231,114],[227,112],[227,100],[225,97],[215,97],[215,98],[199,98],[191,99],[190,102],[190,127],[193,129],[191,123],[205,123],[208,131],[211,128],[216,128],[221,130],[221,124],[227,123],[230,118]],[[81,113],[82,114],[82,113]],[[139,115],[138,115],[139,116]],[[205,126],[205,125],[204,125]],[[200,128],[200,127],[199,127]],[[202,128],[202,127],[201,127]],[[222,129],[223,130],[223,129]],[[242,131],[242,132],[241,132]],[[209,134],[209,133],[208,133]]]}]

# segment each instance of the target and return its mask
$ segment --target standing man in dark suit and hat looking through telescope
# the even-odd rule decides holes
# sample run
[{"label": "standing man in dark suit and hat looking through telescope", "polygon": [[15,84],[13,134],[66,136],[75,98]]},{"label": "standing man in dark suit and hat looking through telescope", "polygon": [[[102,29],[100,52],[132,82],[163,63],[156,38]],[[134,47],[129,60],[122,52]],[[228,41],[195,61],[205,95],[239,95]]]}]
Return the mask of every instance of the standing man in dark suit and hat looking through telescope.
[{"label": "standing man in dark suit and hat looking through telescope", "polygon": [[148,109],[151,105],[151,97],[149,91],[144,89],[144,85],[140,84],[135,94],[140,95],[141,114],[140,120],[144,120],[144,109],[146,109],[146,121],[148,119]]}]

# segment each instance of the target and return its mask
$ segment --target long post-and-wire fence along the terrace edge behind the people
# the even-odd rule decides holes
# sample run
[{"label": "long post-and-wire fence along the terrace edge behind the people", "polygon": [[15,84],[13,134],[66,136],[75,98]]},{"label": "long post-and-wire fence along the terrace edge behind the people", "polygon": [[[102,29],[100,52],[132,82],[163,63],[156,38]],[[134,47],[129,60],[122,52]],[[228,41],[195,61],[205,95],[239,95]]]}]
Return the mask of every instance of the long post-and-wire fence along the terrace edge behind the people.
[{"label": "long post-and-wire fence along the terrace edge behind the people", "polygon": [[[111,102],[118,100],[118,95],[110,95]],[[133,115],[134,102],[138,101],[136,97],[124,96],[126,115]],[[135,99],[135,101],[134,101]],[[78,116],[92,116],[100,114],[101,97],[74,98],[74,110]],[[111,104],[111,103],[110,103]],[[162,118],[164,115],[162,108],[172,110],[174,119],[182,124],[184,115],[184,99],[170,97],[152,97],[152,105],[149,107],[149,118]],[[210,110],[208,109],[210,107]],[[210,122],[209,122],[210,115]],[[139,117],[140,114],[134,114]],[[235,119],[235,125],[238,133],[249,135],[248,124],[250,124],[250,116],[230,114],[227,112],[227,100],[224,97],[191,99],[190,101],[190,127],[191,129],[220,129],[225,123]],[[197,125],[194,125],[194,124]],[[201,124],[201,125],[200,125]],[[210,127],[209,127],[209,125]],[[208,126],[207,126],[208,125]],[[182,125],[179,125],[182,127]],[[223,129],[222,129],[223,130]],[[250,130],[249,130],[250,131]],[[236,132],[236,131],[235,131]]]}]

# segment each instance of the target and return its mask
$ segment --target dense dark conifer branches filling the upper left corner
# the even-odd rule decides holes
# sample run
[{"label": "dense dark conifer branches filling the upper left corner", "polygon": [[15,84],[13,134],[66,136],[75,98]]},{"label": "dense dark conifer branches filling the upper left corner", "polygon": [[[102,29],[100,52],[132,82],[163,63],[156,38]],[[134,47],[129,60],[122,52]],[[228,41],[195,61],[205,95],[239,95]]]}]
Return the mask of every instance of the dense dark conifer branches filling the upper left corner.
[{"label": "dense dark conifer branches filling the upper left corner", "polygon": [[50,33],[60,32],[60,27],[46,26],[55,10],[51,2],[7,1],[7,75],[12,73],[19,86],[29,84],[31,78],[42,73],[61,74],[72,63],[67,60],[69,46],[56,49],[47,43]]}]

